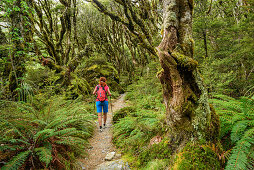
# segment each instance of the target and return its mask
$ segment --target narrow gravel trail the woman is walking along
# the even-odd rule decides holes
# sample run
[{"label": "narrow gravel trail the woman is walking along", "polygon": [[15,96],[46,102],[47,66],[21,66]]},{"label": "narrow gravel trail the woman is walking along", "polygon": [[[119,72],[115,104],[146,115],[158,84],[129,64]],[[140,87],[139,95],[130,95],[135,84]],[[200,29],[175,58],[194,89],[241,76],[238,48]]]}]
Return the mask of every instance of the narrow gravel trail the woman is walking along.
[{"label": "narrow gravel trail the woman is walking along", "polygon": [[[87,149],[88,157],[81,160],[83,169],[93,170],[105,162],[105,157],[108,153],[116,151],[112,144],[112,119],[113,113],[125,106],[125,94],[121,95],[116,101],[109,103],[109,112],[106,122],[106,128],[102,132],[99,131],[99,124],[96,123],[94,135],[89,139],[90,147]],[[113,112],[112,112],[113,110]]]}]

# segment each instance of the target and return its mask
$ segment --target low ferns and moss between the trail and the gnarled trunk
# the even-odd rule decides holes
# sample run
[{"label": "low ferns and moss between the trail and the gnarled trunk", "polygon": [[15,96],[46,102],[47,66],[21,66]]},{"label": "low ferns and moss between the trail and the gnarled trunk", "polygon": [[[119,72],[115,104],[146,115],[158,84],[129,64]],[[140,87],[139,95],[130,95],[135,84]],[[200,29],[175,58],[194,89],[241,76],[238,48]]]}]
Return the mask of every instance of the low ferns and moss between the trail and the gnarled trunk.
[{"label": "low ferns and moss between the trail and the gnarled trunk", "polygon": [[[127,107],[114,113],[114,144],[125,153],[132,167],[164,169],[171,155],[165,126],[165,107],[156,65],[127,89]],[[156,141],[158,137],[161,142]]]}]

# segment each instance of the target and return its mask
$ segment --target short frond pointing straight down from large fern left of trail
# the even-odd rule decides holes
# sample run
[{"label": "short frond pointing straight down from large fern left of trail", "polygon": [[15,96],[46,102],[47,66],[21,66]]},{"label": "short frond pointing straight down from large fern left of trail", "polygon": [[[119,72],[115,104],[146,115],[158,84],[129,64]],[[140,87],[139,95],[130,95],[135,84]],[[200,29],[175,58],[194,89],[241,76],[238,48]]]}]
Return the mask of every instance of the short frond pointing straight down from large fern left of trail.
[{"label": "short frond pointing straight down from large fern left of trail", "polygon": [[41,162],[46,163],[46,167],[48,167],[49,163],[52,160],[52,148],[40,147],[34,149],[36,155],[39,156]]}]

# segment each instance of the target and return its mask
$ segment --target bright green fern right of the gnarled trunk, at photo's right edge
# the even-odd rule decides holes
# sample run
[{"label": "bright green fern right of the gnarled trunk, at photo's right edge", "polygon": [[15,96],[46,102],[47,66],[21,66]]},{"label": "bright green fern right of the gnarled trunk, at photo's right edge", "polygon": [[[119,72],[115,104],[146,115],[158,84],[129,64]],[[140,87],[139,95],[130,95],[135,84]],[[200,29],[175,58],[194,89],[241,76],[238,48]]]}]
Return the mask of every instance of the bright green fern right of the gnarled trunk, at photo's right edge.
[{"label": "bright green fern right of the gnarled trunk, at photo's right edge", "polygon": [[230,133],[232,147],[226,169],[248,169],[254,163],[254,99],[217,95],[211,102],[221,120],[221,138]]}]

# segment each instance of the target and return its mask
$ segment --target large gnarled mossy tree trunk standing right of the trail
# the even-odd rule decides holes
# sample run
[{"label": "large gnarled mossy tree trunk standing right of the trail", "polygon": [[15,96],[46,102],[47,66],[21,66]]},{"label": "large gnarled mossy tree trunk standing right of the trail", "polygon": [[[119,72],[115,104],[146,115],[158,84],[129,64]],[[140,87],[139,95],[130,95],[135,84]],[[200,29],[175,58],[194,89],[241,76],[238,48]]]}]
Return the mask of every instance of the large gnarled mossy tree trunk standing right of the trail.
[{"label": "large gnarled mossy tree trunk standing right of the trail", "polygon": [[207,91],[193,59],[192,13],[192,0],[163,1],[164,33],[157,47],[162,71],[158,77],[170,137],[178,149],[189,141],[209,141],[217,136]]}]

